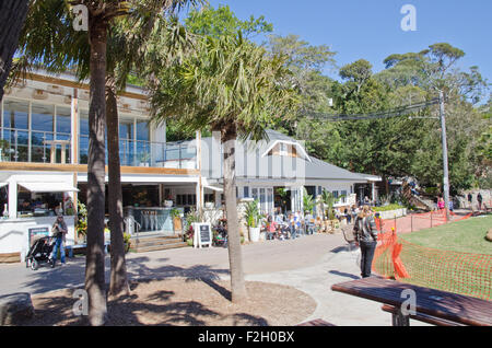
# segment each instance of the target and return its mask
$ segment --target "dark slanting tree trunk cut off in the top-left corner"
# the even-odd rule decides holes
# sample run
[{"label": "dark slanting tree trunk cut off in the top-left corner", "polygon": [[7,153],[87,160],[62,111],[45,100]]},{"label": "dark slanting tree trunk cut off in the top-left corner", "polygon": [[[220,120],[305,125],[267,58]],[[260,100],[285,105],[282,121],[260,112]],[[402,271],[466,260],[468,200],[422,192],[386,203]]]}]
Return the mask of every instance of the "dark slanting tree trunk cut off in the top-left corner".
[{"label": "dark slanting tree trunk cut off in the top-left corner", "polygon": [[0,1],[0,101],[28,9],[27,0]]}]

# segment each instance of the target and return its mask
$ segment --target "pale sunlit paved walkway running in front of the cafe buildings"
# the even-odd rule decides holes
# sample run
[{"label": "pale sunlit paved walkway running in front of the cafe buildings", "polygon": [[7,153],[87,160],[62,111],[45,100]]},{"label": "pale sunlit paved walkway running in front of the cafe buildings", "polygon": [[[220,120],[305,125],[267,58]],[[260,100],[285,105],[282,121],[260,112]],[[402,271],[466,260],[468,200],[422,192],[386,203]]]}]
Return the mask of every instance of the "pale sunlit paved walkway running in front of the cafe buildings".
[{"label": "pale sunlit paved walkway running in front of the cafe buildings", "polygon": [[[246,280],[292,286],[317,302],[316,311],[306,320],[323,318],[336,325],[388,326],[390,315],[380,310],[380,304],[330,289],[333,283],[359,278],[356,256],[356,252],[347,251],[341,234],[315,234],[295,241],[268,241],[243,247]],[[130,279],[227,279],[229,254],[226,248],[215,247],[129,254],[127,268]],[[0,265],[0,295],[82,287],[84,269],[84,257],[69,259],[67,266],[42,267],[37,271],[25,268],[24,264]],[[106,269],[108,280],[109,257],[106,257]]]}]

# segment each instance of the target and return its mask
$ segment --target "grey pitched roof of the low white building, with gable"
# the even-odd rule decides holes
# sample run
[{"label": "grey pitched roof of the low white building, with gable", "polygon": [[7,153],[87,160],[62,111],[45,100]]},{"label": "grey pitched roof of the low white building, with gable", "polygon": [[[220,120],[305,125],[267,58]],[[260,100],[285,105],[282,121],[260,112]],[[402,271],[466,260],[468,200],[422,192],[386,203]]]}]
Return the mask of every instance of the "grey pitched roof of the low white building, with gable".
[{"label": "grey pitched roof of the low white building, with gable", "polygon": [[[343,179],[365,183],[367,179],[361,174],[320,161],[313,156],[290,158],[267,155],[267,150],[280,141],[294,142],[305,152],[297,140],[279,131],[268,129],[268,141],[245,144],[236,143],[236,177],[251,179],[289,181],[302,177],[305,179]],[[212,138],[203,138],[202,175],[208,178],[222,178],[221,146]]]}]

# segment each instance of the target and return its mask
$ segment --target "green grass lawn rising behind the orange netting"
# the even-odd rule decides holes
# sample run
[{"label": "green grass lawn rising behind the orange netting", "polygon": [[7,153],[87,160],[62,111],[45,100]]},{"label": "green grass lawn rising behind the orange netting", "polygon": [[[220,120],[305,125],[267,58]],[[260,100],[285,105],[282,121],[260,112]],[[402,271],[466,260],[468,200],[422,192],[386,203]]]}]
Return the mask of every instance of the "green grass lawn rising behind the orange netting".
[{"label": "green grass lawn rising behind the orange netting", "polygon": [[440,225],[400,235],[401,239],[422,246],[442,251],[492,255],[492,242],[485,234],[492,229],[492,216]]}]

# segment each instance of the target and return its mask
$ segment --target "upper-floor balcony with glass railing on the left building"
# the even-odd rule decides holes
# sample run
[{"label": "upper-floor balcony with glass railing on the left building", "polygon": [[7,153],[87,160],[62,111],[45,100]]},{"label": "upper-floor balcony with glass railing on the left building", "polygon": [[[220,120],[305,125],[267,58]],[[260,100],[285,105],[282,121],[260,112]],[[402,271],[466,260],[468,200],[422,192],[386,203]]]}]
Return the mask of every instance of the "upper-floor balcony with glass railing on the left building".
[{"label": "upper-floor balcony with glass railing on the left building", "polygon": [[[71,135],[0,128],[0,161],[27,163],[71,163]],[[80,136],[79,163],[87,164],[89,137]],[[197,147],[192,142],[154,142],[120,139],[121,166],[197,169]],[[107,153],[106,153],[107,163]]]}]

